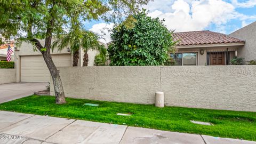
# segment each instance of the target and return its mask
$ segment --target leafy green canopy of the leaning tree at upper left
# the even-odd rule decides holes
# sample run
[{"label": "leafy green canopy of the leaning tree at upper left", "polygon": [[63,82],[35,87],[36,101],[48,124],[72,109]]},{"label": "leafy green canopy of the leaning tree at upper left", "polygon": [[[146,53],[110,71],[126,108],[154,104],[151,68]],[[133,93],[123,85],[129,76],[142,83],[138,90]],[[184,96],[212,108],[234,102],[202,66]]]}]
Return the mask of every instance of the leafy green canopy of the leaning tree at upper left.
[{"label": "leafy green canopy of the leaning tree at upper left", "polygon": [[67,29],[76,29],[91,20],[122,20],[149,1],[0,0],[0,34],[15,38],[16,44],[23,41],[38,44],[35,39],[59,37],[66,34]]}]

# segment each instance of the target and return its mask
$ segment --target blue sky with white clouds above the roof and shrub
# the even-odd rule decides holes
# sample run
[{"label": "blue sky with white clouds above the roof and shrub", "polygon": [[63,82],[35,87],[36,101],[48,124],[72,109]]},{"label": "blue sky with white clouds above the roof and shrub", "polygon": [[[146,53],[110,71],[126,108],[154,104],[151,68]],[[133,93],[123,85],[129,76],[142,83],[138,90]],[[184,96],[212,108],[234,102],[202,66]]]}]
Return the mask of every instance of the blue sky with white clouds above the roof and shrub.
[{"label": "blue sky with white clouds above the roof and shrub", "polygon": [[[155,0],[142,6],[153,18],[165,19],[165,25],[175,32],[211,30],[230,34],[256,21],[256,0]],[[103,43],[111,41],[106,28],[113,23],[92,21],[86,29],[102,36]]]}]

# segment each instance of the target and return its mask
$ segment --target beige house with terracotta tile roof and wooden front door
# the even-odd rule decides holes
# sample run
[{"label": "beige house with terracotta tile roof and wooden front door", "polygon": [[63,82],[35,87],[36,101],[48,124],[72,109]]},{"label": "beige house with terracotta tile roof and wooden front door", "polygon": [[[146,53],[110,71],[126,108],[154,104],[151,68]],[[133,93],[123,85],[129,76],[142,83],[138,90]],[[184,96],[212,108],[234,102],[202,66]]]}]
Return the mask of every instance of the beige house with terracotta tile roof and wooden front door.
[{"label": "beige house with terracotta tile roof and wooden front door", "polygon": [[174,33],[177,53],[171,57],[179,66],[230,65],[235,57],[256,59],[256,22],[230,35],[209,30]]}]

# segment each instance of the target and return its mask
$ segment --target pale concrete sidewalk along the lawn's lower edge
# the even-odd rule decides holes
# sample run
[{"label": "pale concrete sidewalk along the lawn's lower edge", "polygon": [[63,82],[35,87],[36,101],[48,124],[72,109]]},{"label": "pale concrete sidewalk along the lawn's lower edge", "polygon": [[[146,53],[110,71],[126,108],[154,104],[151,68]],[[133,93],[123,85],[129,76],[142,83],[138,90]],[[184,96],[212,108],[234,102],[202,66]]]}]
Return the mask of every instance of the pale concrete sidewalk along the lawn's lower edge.
[{"label": "pale concrete sidewalk along the lawn's lower edge", "polygon": [[256,143],[207,135],[0,111],[0,143]]}]

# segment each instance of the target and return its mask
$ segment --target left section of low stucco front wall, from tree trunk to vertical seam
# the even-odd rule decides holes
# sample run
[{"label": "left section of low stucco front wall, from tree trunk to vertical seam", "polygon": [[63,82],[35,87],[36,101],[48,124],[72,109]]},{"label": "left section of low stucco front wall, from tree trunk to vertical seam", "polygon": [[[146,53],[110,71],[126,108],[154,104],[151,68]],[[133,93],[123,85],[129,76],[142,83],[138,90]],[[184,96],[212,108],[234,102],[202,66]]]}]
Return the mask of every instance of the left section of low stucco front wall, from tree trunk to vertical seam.
[{"label": "left section of low stucco front wall, from tree trunk to vertical seam", "polygon": [[[159,67],[58,67],[66,97],[154,103]],[[51,83],[51,94],[53,84]]]}]

